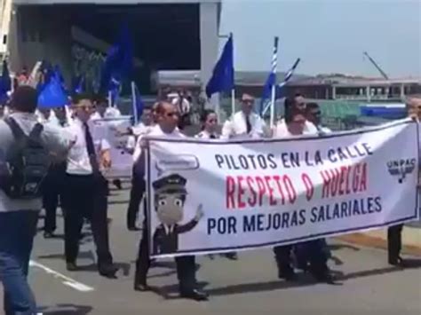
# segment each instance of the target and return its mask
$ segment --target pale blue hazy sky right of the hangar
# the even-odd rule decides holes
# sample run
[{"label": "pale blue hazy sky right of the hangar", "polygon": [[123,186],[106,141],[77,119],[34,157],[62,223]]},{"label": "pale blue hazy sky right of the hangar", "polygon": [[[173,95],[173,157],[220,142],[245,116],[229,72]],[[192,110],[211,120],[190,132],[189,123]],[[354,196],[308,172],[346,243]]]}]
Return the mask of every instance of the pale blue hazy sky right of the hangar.
[{"label": "pale blue hazy sky right of the hangar", "polygon": [[236,70],[421,77],[421,0],[222,0],[220,35],[234,34]]}]

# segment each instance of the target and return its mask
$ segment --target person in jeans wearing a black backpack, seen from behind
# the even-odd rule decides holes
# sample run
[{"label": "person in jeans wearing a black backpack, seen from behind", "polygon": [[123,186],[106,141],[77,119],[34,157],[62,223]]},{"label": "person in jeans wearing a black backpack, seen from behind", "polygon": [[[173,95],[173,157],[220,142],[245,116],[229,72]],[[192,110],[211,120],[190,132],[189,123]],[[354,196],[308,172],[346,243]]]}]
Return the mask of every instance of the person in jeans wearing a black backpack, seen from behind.
[{"label": "person in jeans wearing a black backpack, seen from behind", "polygon": [[36,120],[37,92],[19,86],[13,113],[0,121],[0,281],[5,314],[36,314],[28,264],[43,207],[44,177],[53,161],[66,159],[72,142]]}]

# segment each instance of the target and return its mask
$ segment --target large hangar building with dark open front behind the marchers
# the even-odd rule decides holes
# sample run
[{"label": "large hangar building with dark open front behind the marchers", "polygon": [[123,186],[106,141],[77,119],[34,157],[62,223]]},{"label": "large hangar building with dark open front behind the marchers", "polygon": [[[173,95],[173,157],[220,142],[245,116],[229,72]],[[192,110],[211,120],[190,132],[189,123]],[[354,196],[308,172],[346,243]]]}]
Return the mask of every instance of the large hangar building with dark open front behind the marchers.
[{"label": "large hangar building with dark open front behind the marchers", "polygon": [[144,93],[154,93],[151,78],[158,70],[200,70],[206,83],[218,58],[221,0],[0,2],[2,19],[10,20],[0,31],[13,71],[46,59],[59,64],[68,80],[80,74],[94,80],[123,24],[131,31],[136,81]]}]

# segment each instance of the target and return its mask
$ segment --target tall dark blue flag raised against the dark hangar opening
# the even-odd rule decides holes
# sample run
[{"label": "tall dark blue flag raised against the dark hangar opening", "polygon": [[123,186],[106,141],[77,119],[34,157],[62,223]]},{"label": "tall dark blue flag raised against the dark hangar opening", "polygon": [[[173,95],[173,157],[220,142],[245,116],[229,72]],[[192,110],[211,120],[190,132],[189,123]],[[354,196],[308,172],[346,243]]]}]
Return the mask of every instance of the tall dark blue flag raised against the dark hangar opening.
[{"label": "tall dark blue flag raised against the dark hangar opening", "polygon": [[133,69],[133,44],[127,25],[123,26],[117,41],[107,52],[101,71],[99,91],[110,91],[112,81],[130,78]]}]

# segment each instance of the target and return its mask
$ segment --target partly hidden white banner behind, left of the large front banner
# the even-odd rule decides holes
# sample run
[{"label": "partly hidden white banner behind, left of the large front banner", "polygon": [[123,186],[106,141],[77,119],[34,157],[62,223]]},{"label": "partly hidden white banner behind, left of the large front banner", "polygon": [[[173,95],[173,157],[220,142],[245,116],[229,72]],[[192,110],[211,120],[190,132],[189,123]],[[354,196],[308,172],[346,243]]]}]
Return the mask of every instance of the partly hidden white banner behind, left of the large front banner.
[{"label": "partly hidden white banner behind, left of the large front banner", "polygon": [[131,127],[131,116],[92,120],[94,140],[106,138],[110,148],[111,168],[104,170],[107,178],[131,177],[133,159],[127,151],[128,136],[121,136],[117,131]]}]

